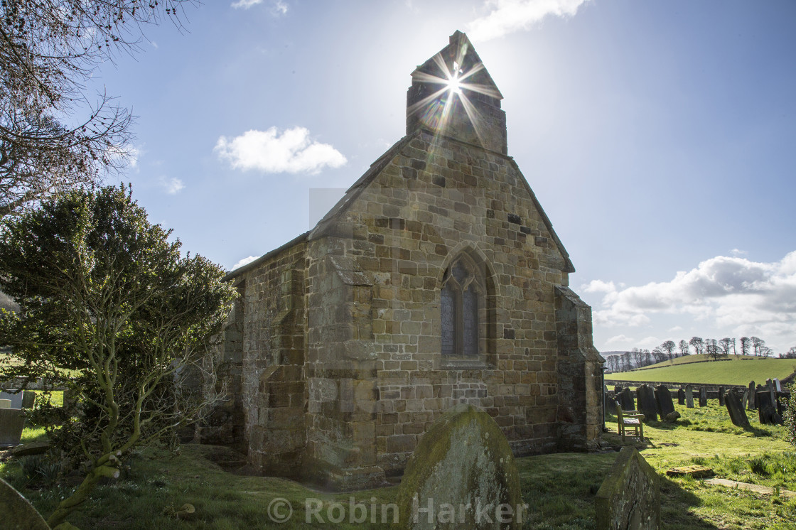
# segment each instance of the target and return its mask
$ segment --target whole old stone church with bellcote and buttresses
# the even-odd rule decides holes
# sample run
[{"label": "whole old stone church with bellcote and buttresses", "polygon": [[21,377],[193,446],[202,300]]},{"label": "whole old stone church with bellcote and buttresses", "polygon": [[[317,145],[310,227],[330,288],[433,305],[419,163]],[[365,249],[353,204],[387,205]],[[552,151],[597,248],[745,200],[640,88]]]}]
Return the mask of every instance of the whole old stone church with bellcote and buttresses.
[{"label": "whole old stone church with bellcote and buttresses", "polygon": [[591,309],[508,155],[501,99],[454,33],[412,72],[406,136],[312,230],[229,273],[227,398],[202,441],[333,489],[401,473],[457,403],[517,455],[595,444]]}]

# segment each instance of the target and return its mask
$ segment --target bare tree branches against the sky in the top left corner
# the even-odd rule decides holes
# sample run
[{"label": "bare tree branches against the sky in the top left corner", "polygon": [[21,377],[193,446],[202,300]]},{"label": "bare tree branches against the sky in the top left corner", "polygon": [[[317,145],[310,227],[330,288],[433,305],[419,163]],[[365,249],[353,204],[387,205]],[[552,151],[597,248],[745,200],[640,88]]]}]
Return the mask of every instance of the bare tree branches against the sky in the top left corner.
[{"label": "bare tree branches against the sky in the top left corner", "polygon": [[164,16],[181,26],[192,1],[0,2],[0,216],[126,164],[130,113],[85,84],[135,52],[143,26]]}]

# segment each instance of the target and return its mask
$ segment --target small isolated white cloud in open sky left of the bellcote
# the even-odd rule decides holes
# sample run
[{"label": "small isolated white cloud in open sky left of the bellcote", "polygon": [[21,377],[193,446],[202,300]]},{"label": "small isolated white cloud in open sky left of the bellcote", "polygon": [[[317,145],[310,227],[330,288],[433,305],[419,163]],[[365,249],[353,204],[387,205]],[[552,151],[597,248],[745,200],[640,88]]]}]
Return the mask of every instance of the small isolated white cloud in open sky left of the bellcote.
[{"label": "small isolated white cloud in open sky left of the bellcote", "polygon": [[293,127],[279,134],[276,127],[267,131],[246,131],[235,138],[221,136],[218,156],[234,169],[263,173],[318,173],[323,167],[340,167],[348,162],[328,143],[310,139],[310,131]]}]

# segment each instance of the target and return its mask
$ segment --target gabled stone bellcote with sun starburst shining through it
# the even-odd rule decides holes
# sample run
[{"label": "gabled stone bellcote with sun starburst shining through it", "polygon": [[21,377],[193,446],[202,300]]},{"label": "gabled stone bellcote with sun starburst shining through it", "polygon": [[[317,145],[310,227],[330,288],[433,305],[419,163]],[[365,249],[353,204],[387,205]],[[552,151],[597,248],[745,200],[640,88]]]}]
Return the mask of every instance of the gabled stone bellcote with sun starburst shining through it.
[{"label": "gabled stone bellcote with sun starburst shining through it", "polygon": [[406,132],[427,129],[507,154],[501,99],[470,39],[456,31],[450,44],[412,72]]}]

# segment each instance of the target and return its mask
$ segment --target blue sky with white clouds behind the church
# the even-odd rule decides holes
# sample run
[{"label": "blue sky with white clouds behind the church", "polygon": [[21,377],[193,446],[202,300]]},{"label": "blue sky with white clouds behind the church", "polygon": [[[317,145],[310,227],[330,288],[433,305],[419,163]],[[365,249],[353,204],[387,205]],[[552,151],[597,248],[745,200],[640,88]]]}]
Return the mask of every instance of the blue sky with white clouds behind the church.
[{"label": "blue sky with white clouds behind the church", "polygon": [[788,1],[213,0],[96,83],[139,117],[123,180],[150,219],[232,268],[310,228],[404,135],[410,73],[460,29],[598,349],[745,334],[780,353],[796,346],[794,24]]}]

